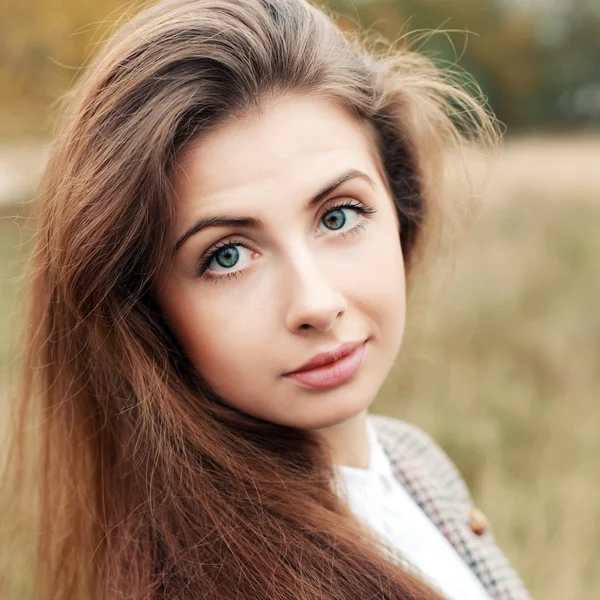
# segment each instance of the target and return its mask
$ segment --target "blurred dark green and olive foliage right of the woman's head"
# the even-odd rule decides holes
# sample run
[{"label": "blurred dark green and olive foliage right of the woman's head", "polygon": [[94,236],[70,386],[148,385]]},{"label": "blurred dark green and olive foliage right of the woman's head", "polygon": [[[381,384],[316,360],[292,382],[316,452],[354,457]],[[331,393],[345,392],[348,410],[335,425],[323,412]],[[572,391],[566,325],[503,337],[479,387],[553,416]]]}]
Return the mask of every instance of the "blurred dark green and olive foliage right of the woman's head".
[{"label": "blurred dark green and olive foliage right of the woman's head", "polygon": [[510,134],[600,125],[597,0],[320,3],[388,39],[406,31],[448,31],[421,51],[471,73]]}]

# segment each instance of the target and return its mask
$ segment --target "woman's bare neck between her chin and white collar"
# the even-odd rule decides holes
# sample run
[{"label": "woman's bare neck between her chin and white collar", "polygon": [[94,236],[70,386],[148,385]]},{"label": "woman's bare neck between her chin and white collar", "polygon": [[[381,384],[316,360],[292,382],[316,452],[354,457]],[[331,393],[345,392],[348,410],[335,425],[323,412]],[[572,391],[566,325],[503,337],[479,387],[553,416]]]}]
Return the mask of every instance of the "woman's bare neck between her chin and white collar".
[{"label": "woman's bare neck between her chin and white collar", "polygon": [[369,468],[369,436],[367,410],[355,416],[315,431],[331,449],[333,463],[357,469]]}]

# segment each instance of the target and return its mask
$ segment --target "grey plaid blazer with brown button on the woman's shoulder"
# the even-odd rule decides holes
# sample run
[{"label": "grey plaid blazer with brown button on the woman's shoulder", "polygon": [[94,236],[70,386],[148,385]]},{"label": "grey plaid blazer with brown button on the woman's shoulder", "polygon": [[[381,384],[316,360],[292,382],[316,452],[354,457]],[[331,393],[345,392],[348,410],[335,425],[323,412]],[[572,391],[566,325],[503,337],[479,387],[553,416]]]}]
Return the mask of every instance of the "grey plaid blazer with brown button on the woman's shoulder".
[{"label": "grey plaid blazer with brown button on the woman's shoulder", "polygon": [[[446,536],[493,600],[531,600],[519,576],[496,545],[490,527],[444,451],[417,427],[369,415],[398,481]],[[388,556],[406,566],[399,551]]]}]

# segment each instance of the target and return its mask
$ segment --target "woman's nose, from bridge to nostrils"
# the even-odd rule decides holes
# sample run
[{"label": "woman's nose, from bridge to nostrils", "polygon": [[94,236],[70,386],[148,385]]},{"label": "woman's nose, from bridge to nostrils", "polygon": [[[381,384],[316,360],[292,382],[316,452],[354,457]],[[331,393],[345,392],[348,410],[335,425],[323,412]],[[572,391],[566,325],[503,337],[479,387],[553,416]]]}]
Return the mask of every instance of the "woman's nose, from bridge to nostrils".
[{"label": "woman's nose, from bridge to nostrils", "polygon": [[[288,298],[286,325],[294,333],[309,329],[328,331],[347,308],[344,295],[337,289],[336,271],[320,265],[309,252],[295,254],[285,267]],[[339,273],[338,273],[339,275]]]}]

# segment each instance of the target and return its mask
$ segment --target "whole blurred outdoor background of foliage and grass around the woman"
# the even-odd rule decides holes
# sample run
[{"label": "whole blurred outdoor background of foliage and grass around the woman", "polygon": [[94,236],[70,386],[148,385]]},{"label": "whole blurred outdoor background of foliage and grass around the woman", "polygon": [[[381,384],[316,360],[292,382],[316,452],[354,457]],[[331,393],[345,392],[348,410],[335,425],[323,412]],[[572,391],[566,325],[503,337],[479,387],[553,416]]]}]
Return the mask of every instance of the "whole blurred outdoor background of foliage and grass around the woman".
[{"label": "whole blurred outdoor background of foliage and grass around the woman", "polygon": [[[374,411],[442,445],[535,598],[600,598],[600,1],[320,3],[388,39],[445,30],[421,51],[471,73],[506,131]],[[127,11],[0,8],[0,393],[56,101]]]}]

